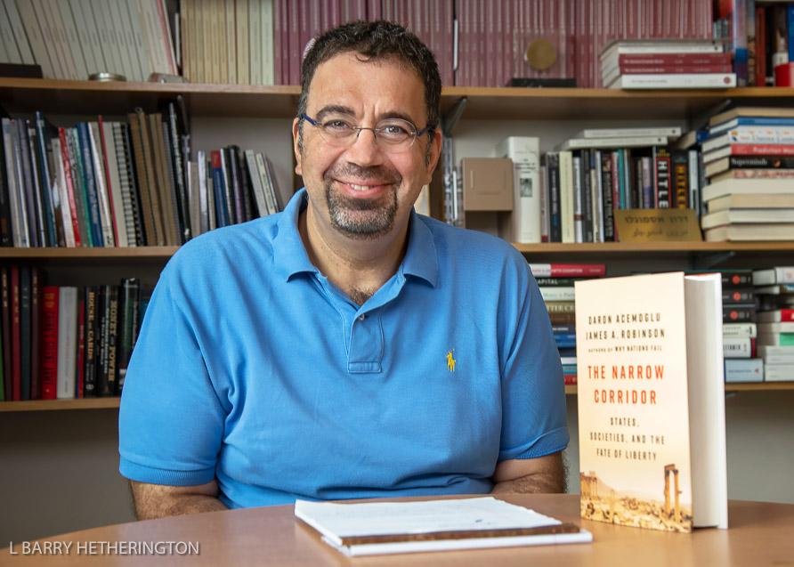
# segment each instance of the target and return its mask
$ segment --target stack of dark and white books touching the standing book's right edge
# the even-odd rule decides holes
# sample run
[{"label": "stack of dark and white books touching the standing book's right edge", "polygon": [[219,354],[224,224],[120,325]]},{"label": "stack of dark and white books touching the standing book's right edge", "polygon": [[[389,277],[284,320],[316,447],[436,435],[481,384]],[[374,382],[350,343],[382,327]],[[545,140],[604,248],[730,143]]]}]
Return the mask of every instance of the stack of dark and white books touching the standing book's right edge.
[{"label": "stack of dark and white books touching the standing book's right edge", "polygon": [[762,382],[764,361],[757,358],[756,296],[752,271],[721,271],[725,382]]}]

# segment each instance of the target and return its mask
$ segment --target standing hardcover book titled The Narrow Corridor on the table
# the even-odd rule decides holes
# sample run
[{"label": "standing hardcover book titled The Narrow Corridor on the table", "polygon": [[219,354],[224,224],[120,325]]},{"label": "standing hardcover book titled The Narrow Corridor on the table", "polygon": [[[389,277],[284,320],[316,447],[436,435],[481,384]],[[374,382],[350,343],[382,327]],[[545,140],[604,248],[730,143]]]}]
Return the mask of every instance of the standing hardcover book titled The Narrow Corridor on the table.
[{"label": "standing hardcover book titled The Narrow Corridor on the table", "polygon": [[720,275],[575,287],[582,517],[726,528]]}]

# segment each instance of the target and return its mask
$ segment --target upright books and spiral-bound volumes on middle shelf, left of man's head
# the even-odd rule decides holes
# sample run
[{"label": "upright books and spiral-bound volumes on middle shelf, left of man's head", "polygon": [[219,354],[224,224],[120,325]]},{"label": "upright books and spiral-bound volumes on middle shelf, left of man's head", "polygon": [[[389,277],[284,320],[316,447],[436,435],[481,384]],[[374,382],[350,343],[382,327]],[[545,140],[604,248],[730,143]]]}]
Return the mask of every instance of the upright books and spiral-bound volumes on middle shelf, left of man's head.
[{"label": "upright books and spiral-bound volumes on middle shelf, left of man's head", "polygon": [[3,118],[0,245],[178,246],[280,210],[263,154],[230,146],[193,159],[177,108],[59,128],[39,112]]}]

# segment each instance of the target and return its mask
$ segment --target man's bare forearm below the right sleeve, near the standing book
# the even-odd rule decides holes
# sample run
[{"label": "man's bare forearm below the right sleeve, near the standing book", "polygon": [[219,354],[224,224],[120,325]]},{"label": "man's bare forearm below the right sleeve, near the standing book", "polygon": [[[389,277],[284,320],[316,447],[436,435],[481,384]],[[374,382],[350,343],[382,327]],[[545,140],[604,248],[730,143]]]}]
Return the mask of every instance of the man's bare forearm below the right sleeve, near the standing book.
[{"label": "man's bare forearm below the right sleeve, near the standing book", "polygon": [[493,474],[493,490],[497,492],[564,492],[565,468],[563,454],[539,458],[515,458],[502,461]]}]

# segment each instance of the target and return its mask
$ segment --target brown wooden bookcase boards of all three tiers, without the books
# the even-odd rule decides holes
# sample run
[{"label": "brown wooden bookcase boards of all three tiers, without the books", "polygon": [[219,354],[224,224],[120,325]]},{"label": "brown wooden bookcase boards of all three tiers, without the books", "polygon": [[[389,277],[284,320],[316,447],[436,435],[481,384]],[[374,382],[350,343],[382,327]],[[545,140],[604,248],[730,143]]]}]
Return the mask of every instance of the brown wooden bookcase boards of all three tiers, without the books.
[{"label": "brown wooden bookcase boards of all three tiers, without the books", "polygon": [[[0,106],[14,115],[42,110],[69,120],[75,116],[124,116],[131,109],[157,109],[182,95],[199,138],[229,120],[234,124],[254,118],[274,119],[288,125],[295,115],[300,87],[297,85],[208,85],[189,83],[99,83],[56,79],[0,78]],[[725,101],[747,104],[790,105],[794,88],[734,88],[718,90],[620,91],[577,88],[512,88],[453,86],[442,91],[442,113],[466,99],[462,123],[476,127],[530,121],[550,128],[570,128],[580,121],[677,120],[688,124],[704,120]],[[523,126],[515,126],[523,127]],[[255,130],[255,126],[248,126]],[[194,133],[195,134],[195,133]],[[241,133],[243,134],[243,133]],[[248,134],[243,134],[248,135]],[[288,143],[288,130],[271,134],[269,144]],[[543,243],[514,244],[532,261],[606,262],[628,271],[636,263],[660,261],[670,269],[713,266],[731,260],[751,264],[760,258],[784,261],[794,253],[794,242],[652,242],[652,243]],[[149,271],[157,279],[159,269],[177,247],[96,248],[0,248],[0,261],[42,264],[53,269],[87,275],[90,269],[112,273],[120,268]],[[151,278],[150,278],[151,279]],[[728,391],[776,391],[785,384],[730,385]],[[567,393],[575,393],[568,388]],[[0,411],[115,408],[117,400],[77,400],[22,403],[2,402]]]}]

